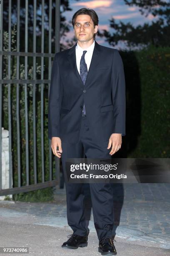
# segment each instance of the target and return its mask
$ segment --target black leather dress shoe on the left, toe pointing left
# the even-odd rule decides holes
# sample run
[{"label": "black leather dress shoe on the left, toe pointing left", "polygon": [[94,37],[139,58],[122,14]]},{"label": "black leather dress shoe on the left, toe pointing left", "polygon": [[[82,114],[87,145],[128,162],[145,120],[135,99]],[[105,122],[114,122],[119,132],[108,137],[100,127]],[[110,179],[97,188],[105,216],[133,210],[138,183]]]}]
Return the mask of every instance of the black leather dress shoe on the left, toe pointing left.
[{"label": "black leather dress shoe on the left, toe pointing left", "polygon": [[77,249],[78,247],[87,246],[87,236],[78,236],[75,234],[68,235],[69,239],[62,244],[63,248]]}]

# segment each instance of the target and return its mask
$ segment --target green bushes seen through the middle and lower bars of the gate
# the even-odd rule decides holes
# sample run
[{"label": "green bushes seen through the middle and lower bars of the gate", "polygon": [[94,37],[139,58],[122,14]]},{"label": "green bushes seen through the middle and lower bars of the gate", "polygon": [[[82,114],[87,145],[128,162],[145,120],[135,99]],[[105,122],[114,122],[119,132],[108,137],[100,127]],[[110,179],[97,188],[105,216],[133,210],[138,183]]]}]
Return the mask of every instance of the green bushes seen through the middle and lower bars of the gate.
[{"label": "green bushes seen through the middle and lower bars of the gate", "polygon": [[[15,25],[12,28],[12,41],[11,41],[11,49],[12,51],[15,51],[15,43],[16,43],[16,30]],[[8,49],[8,32],[4,31],[3,33],[3,41],[4,41],[4,47],[3,50],[7,51]],[[3,77],[4,79],[8,79],[8,58],[4,55],[3,58]],[[13,56],[11,58],[11,65],[10,65],[10,74],[11,79],[16,79],[16,67],[17,67],[17,58],[16,56]],[[25,79],[25,65],[20,64],[20,79]],[[38,66],[36,63],[36,75],[41,74],[41,66]],[[33,79],[33,67],[28,64],[28,79]],[[28,102],[28,137],[29,137],[29,169],[30,169],[30,184],[34,184],[34,151],[33,151],[33,84],[27,85],[27,102]],[[3,84],[2,87],[2,104],[3,104],[3,110],[2,110],[2,126],[8,130],[8,92],[9,92],[9,86],[8,84]],[[36,135],[37,135],[37,181],[42,181],[42,156],[41,156],[41,90],[42,90],[42,84],[36,84]],[[18,136],[17,136],[17,85],[12,84],[10,85],[10,91],[11,91],[11,125],[12,125],[12,154],[13,154],[13,185],[14,187],[18,186]],[[26,185],[26,141],[25,141],[25,84],[19,85],[19,116],[20,116],[20,159],[21,159],[21,184],[24,186]],[[44,85],[44,157],[45,157],[45,181],[49,180],[49,140],[48,140],[48,134],[47,134],[47,105],[48,105],[48,84]],[[55,162],[52,161],[53,164],[53,175],[55,175]],[[44,196],[44,199],[47,200],[47,191],[52,191],[52,188],[48,188],[47,190],[42,189],[36,190],[35,192],[28,192],[28,193],[21,193],[18,195],[15,195],[14,198],[17,200],[35,200],[35,197],[37,195],[37,198],[40,199],[39,193],[42,193],[41,200]],[[46,192],[45,192],[46,191]],[[34,197],[32,199],[32,196]],[[30,198],[30,199],[29,199]]]}]

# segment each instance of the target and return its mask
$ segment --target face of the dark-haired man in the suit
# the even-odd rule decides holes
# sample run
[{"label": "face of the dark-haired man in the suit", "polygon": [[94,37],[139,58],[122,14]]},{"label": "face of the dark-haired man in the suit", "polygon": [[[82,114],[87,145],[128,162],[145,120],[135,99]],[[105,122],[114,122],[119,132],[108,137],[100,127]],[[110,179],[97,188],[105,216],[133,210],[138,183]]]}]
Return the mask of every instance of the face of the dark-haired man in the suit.
[{"label": "face of the dark-haired man in the suit", "polygon": [[94,27],[89,15],[78,15],[75,19],[74,33],[78,41],[88,42],[93,38],[94,33],[97,33],[97,25]]}]

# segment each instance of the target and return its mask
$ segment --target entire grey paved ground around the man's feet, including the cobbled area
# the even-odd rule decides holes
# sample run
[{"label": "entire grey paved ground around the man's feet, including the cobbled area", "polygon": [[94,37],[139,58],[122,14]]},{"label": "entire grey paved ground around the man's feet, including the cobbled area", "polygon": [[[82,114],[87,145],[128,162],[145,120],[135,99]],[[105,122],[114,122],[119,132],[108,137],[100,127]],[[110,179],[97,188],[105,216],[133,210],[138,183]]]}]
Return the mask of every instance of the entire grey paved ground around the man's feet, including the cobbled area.
[{"label": "entire grey paved ground around the man's feet, including the cobbled area", "polygon": [[[117,255],[170,255],[170,184],[117,184],[113,195]],[[87,248],[60,247],[72,233],[65,202],[64,190],[48,203],[1,201],[0,246],[28,246],[36,256],[100,255],[92,215]]]}]

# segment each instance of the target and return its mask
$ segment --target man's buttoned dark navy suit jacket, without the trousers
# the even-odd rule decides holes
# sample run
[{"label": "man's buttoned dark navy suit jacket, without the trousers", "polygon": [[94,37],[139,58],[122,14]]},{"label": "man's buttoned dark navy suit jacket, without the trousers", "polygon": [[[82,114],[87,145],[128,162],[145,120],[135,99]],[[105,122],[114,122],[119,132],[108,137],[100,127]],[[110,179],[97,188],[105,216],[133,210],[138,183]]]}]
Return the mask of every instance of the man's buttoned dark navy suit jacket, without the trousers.
[{"label": "man's buttoned dark navy suit jacket, without the trousers", "polygon": [[97,44],[85,85],[77,70],[76,44],[55,54],[48,105],[48,136],[77,143],[85,103],[87,122],[96,142],[112,133],[125,135],[125,77],[116,49]]}]

